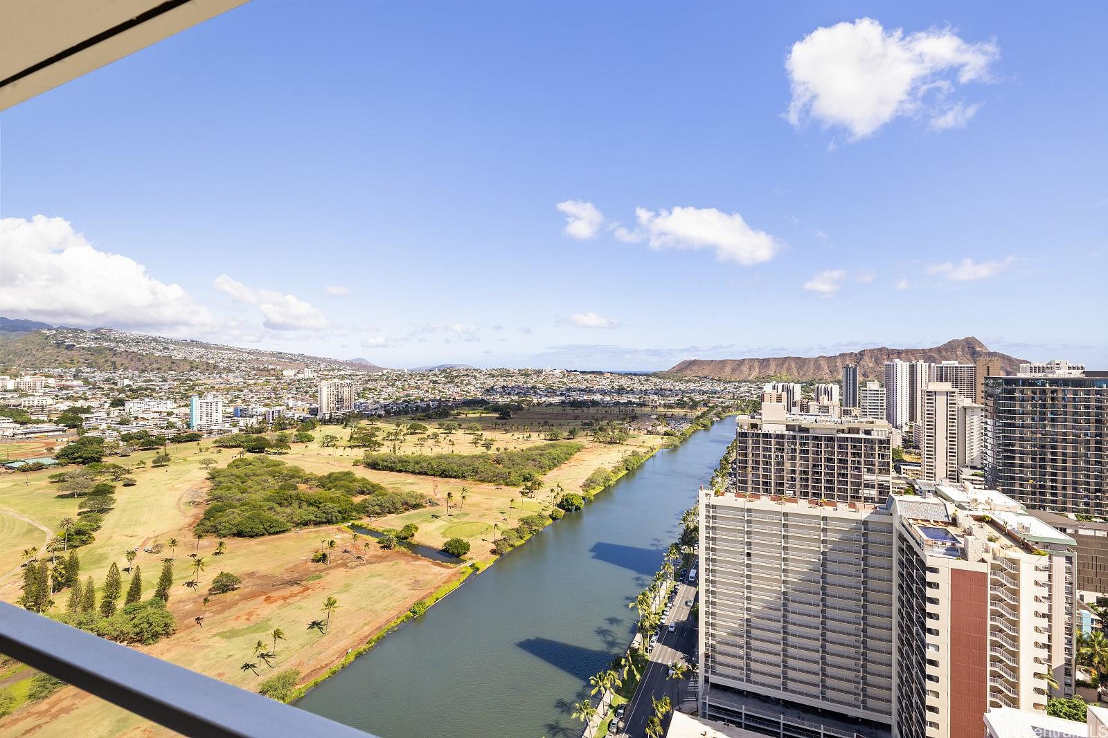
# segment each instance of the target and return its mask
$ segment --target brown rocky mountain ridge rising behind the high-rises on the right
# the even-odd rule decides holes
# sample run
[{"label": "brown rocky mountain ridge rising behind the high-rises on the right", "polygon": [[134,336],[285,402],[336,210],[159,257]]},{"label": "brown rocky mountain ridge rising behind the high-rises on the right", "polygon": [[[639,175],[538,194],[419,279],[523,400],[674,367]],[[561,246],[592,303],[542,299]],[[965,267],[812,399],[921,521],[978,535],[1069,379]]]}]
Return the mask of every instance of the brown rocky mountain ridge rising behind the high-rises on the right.
[{"label": "brown rocky mountain ridge rising behind the high-rises on the right", "polygon": [[925,361],[938,363],[957,361],[974,364],[981,358],[995,358],[1007,374],[1015,374],[1023,361],[1007,354],[991,351],[975,339],[953,339],[930,349],[863,349],[824,356],[771,356],[748,358],[687,358],[667,371],[678,376],[712,377],[721,380],[758,380],[776,375],[789,375],[799,381],[835,381],[842,376],[844,364],[858,365],[859,380],[880,380],[882,365],[900,358],[902,361]]}]

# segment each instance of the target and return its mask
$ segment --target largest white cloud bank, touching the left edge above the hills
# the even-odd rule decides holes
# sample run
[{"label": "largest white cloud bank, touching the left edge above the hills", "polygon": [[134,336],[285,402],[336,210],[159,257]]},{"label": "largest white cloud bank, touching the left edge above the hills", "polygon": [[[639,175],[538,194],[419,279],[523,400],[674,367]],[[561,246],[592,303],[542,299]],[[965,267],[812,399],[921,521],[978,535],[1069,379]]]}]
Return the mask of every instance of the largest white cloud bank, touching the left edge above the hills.
[{"label": "largest white cloud bank, touching the left edge above the hills", "polygon": [[74,328],[112,326],[184,334],[214,321],[179,284],[137,261],[99,251],[64,218],[0,220],[3,313]]}]

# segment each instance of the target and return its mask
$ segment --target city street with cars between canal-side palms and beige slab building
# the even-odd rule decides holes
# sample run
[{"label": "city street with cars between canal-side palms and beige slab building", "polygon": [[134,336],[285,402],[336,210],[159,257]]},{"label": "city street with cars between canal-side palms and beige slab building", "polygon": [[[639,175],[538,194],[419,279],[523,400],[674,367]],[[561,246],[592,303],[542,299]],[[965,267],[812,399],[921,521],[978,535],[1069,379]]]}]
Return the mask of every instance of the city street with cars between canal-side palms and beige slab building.
[{"label": "city street with cars between canal-side palms and beige slab building", "polygon": [[[696,569],[698,564],[699,558],[697,557],[693,560],[690,570]],[[669,697],[674,709],[677,709],[686,696],[685,693],[693,676],[691,671],[686,678],[680,680],[670,679],[668,675],[669,665],[675,661],[687,665],[691,664],[693,652],[697,644],[697,623],[689,617],[691,609],[685,603],[693,600],[695,604],[696,594],[697,588],[695,585],[684,582],[677,583],[677,599],[674,601],[673,610],[669,617],[661,624],[661,635],[658,636],[658,643],[648,656],[649,662],[643,672],[638,689],[627,703],[627,713],[624,715],[620,730],[613,730],[613,736],[617,738],[645,738],[646,721],[654,715],[654,705],[650,698]],[[673,633],[669,632],[669,623],[677,624],[677,630]],[[667,723],[668,720],[664,721],[663,725]]]}]

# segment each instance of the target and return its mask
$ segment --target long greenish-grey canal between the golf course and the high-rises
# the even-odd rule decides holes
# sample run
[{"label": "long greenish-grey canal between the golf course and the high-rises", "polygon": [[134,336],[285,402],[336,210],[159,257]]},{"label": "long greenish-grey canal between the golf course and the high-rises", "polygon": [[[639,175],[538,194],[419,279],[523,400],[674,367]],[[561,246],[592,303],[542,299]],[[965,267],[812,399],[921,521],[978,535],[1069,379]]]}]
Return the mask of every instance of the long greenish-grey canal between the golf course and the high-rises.
[{"label": "long greenish-grey canal between the golf course and the high-rises", "polygon": [[576,738],[571,705],[630,644],[627,603],[661,565],[680,513],[733,437],[727,418],[658,451],[297,707],[382,738]]}]

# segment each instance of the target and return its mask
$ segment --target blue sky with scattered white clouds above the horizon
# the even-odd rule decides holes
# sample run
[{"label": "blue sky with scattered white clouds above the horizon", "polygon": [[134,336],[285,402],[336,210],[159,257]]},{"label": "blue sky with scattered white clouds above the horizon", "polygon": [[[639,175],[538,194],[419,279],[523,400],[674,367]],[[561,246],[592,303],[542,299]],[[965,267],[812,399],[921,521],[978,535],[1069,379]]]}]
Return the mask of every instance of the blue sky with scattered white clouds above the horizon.
[{"label": "blue sky with scattered white clouds above the horizon", "polygon": [[1106,366],[1106,23],[255,0],[0,116],[0,311],[387,366]]}]

